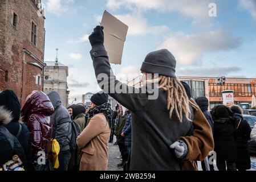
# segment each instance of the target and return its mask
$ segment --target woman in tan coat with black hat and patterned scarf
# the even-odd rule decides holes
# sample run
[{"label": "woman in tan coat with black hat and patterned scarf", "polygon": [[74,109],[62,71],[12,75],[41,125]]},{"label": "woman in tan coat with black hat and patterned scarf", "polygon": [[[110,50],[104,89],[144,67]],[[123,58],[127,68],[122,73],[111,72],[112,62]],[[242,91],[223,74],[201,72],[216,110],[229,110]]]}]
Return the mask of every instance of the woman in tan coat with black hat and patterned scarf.
[{"label": "woman in tan coat with black hat and patterned scarf", "polygon": [[82,148],[80,171],[105,171],[108,166],[108,140],[112,109],[108,95],[99,92],[91,97],[87,126],[76,139]]}]

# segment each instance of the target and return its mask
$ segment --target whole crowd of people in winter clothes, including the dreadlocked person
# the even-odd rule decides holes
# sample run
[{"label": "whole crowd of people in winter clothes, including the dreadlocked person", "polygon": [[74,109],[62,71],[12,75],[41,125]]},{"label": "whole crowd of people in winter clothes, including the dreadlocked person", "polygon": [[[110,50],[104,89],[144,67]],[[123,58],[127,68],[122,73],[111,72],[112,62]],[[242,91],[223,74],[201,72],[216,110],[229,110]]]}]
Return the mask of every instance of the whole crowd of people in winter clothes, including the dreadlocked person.
[{"label": "whole crowd of people in winter clothes, including the dreadlocked person", "polygon": [[[255,140],[237,105],[209,111],[206,97],[193,100],[189,85],[176,76],[176,59],[167,49],[149,53],[141,65],[143,82],[155,83],[151,99],[147,84],[136,93],[113,75],[104,48],[103,27],[89,36],[96,78],[103,91],[91,106],[62,105],[57,92],[33,91],[22,106],[12,90],[0,93],[0,169],[31,171],[107,170],[108,144],[119,146],[125,170],[218,170],[250,168],[248,141]],[[111,92],[111,84],[127,92]],[[133,88],[132,90],[134,90]],[[142,90],[146,92],[142,92]],[[112,110],[108,95],[119,105]]]}]

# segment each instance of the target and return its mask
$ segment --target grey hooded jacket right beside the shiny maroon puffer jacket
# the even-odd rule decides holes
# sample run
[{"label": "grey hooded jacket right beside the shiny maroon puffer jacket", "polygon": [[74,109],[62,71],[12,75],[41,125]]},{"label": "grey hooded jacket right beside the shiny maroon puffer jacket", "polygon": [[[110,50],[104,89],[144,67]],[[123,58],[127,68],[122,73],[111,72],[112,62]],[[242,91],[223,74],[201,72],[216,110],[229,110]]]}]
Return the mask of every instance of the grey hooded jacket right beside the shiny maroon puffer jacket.
[{"label": "grey hooded jacket right beside the shiny maroon puffer jacket", "polygon": [[70,114],[68,114],[66,107],[62,105],[57,92],[51,91],[47,95],[54,106],[54,113],[51,115],[52,138],[55,138],[59,142],[60,151],[70,150],[72,135]]}]

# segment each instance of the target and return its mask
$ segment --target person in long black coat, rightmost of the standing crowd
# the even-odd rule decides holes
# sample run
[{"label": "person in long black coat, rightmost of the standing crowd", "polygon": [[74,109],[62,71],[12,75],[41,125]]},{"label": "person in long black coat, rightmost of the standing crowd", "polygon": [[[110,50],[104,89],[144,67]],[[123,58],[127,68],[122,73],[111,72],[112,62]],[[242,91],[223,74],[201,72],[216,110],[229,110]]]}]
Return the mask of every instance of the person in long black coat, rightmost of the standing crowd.
[{"label": "person in long black coat, rightmost of the standing crowd", "polygon": [[237,169],[239,171],[245,171],[251,168],[251,159],[249,154],[248,141],[251,139],[251,127],[249,123],[243,120],[242,109],[238,105],[233,105],[230,109],[235,113],[234,118],[237,119]]}]

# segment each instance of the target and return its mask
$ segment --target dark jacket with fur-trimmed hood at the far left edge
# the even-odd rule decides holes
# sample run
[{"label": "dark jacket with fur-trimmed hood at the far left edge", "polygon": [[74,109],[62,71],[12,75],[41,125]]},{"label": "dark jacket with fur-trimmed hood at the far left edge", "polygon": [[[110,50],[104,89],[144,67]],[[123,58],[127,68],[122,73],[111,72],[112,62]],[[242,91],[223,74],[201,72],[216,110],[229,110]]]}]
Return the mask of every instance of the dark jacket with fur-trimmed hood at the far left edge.
[{"label": "dark jacket with fur-trimmed hood at the far left edge", "polygon": [[5,127],[11,120],[11,113],[0,106],[0,167],[11,160],[14,155],[18,155],[23,166],[27,168],[27,160],[21,144]]}]

